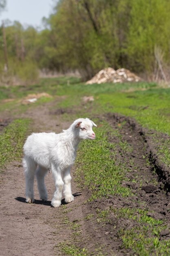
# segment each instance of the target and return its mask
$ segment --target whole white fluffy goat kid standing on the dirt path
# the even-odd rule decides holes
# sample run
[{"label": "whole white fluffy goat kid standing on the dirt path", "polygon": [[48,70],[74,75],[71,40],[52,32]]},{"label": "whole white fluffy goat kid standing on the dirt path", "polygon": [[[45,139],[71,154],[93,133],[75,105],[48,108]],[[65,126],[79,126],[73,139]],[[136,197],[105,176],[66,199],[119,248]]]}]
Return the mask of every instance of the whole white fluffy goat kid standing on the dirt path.
[{"label": "whole white fluffy goat kid standing on the dirt path", "polygon": [[26,202],[34,202],[33,182],[36,174],[40,199],[46,201],[47,191],[44,177],[50,169],[55,180],[55,193],[51,201],[53,207],[59,207],[64,188],[65,202],[74,200],[71,193],[70,169],[76,157],[81,139],[95,139],[92,127],[96,124],[90,119],[80,118],[63,132],[33,133],[24,144],[23,166],[26,179]]}]

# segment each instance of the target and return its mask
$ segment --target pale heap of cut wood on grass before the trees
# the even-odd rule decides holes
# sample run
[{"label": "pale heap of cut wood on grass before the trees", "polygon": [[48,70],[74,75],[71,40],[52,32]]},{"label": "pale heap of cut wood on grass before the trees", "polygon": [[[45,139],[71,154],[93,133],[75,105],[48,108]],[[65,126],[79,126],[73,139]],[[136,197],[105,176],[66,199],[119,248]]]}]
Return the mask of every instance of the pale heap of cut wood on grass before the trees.
[{"label": "pale heap of cut wood on grass before the trees", "polygon": [[141,81],[139,76],[130,72],[126,68],[119,68],[114,70],[112,67],[100,70],[93,78],[86,82],[86,84],[92,83],[124,83],[124,82],[138,82]]}]

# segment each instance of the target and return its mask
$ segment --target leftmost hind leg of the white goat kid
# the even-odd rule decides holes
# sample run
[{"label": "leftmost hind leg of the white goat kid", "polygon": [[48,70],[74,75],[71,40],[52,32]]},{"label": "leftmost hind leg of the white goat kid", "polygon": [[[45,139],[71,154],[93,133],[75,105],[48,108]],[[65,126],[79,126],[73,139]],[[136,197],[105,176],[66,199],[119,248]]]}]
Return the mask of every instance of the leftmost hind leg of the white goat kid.
[{"label": "leftmost hind leg of the white goat kid", "polygon": [[23,160],[24,172],[25,172],[25,181],[26,181],[26,202],[34,202],[34,176],[37,164],[31,158],[24,157]]}]

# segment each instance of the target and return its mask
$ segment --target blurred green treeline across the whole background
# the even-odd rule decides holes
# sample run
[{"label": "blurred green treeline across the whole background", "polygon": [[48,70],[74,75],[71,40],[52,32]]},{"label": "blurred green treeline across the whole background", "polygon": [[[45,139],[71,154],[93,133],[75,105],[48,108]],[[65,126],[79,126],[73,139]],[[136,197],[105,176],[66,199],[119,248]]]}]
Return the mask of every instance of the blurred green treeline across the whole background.
[{"label": "blurred green treeline across the whole background", "polygon": [[169,79],[169,0],[60,0],[43,24],[41,31],[17,21],[0,27],[2,81],[75,71],[87,80],[105,67]]}]

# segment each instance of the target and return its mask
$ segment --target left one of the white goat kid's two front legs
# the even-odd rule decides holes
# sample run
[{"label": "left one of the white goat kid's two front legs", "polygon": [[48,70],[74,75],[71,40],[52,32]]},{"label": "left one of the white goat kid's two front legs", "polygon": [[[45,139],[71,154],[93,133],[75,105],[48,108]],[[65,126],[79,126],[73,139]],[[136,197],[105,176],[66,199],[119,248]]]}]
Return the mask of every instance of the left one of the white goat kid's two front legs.
[{"label": "left one of the white goat kid's two front legs", "polygon": [[60,168],[57,168],[53,165],[51,167],[52,167],[53,177],[55,180],[55,192],[54,192],[53,199],[51,201],[51,205],[53,207],[59,207],[62,204],[61,200],[62,200],[62,190],[64,187],[64,182],[62,181]]}]

